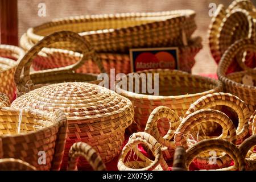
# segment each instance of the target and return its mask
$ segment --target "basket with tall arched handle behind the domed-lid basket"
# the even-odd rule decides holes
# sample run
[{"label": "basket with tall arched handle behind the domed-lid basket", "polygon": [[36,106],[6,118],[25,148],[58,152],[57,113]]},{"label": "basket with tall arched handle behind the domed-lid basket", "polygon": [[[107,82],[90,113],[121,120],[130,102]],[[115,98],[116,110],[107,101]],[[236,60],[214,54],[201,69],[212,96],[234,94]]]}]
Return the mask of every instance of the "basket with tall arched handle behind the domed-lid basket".
[{"label": "basket with tall arched handle behind the domed-lid basket", "polygon": [[[30,67],[34,57],[44,48],[52,43],[56,42],[66,42],[76,47],[80,50],[82,57],[79,61],[72,65],[68,65],[63,68],[48,69],[46,71],[38,71],[30,74]],[[69,53],[68,51],[64,51]],[[39,88],[44,84],[58,83],[64,81],[93,81],[97,80],[97,75],[93,74],[81,74],[75,73],[76,69],[80,68],[82,65],[86,64],[86,60],[92,58],[98,65],[101,72],[105,72],[102,67],[101,61],[98,59],[97,55],[94,53],[92,46],[89,42],[86,42],[81,36],[74,32],[61,31],[55,32],[49,36],[44,37],[38,43],[32,47],[26,55],[20,60],[18,67],[15,72],[14,81],[16,82],[17,89],[19,91],[18,95],[24,94]],[[23,77],[20,77],[22,70],[24,68]]]}]

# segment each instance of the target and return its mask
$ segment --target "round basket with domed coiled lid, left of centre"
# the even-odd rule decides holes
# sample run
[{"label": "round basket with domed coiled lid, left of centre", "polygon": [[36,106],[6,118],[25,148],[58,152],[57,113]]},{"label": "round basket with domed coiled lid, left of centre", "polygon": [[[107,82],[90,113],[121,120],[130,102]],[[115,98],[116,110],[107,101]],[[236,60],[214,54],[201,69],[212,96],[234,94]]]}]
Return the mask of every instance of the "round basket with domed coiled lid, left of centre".
[{"label": "round basket with domed coiled lid, left of centre", "polygon": [[[75,142],[85,142],[110,162],[122,150],[125,129],[134,120],[131,102],[102,86],[85,82],[64,82],[32,90],[18,97],[11,107],[30,107],[48,112],[64,110],[68,118],[68,138],[63,167]],[[80,167],[88,167],[85,161]]]}]

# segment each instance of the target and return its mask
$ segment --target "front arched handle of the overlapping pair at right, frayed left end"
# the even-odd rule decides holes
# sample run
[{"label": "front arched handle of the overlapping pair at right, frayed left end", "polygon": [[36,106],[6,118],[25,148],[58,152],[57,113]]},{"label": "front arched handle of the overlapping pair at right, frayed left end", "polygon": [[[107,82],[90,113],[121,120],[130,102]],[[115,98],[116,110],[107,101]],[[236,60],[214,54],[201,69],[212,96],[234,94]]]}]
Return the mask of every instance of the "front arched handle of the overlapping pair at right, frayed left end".
[{"label": "front arched handle of the overlapping pair at right, frayed left end", "polygon": [[[180,123],[180,126],[177,128],[174,137],[176,146],[183,146],[184,148],[187,149],[189,147],[187,137],[189,136],[192,136],[192,139],[195,140],[195,142],[197,142],[197,135],[194,134],[195,131],[192,130],[193,127],[208,121],[216,122],[219,125],[221,125],[222,134],[218,138],[228,138],[228,134],[230,134],[230,142],[236,143],[236,128],[234,127],[233,122],[229,119],[229,117],[226,114],[214,109],[201,109],[189,114]],[[191,132],[193,132],[193,134],[191,134]]]}]

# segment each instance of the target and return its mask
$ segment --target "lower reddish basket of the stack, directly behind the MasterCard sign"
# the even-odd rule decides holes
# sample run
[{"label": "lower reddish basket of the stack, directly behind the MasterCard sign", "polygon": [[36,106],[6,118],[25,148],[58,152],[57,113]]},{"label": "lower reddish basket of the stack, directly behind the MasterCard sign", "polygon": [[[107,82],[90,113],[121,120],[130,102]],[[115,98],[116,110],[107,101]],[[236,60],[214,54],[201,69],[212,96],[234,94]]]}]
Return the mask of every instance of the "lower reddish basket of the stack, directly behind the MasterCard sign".
[{"label": "lower reddish basket of the stack, directly behind the MasterCard sign", "polygon": [[[187,46],[179,46],[179,69],[186,72],[191,72],[193,65],[195,64],[195,56],[203,48],[201,44],[201,38],[188,39]],[[20,44],[25,50],[29,50],[34,43],[32,43],[26,34],[20,39]],[[171,44],[167,45],[172,47]],[[77,51],[77,50],[76,50]],[[35,57],[32,67],[38,70],[52,69],[65,67],[70,64],[76,63],[80,59],[81,54],[74,51],[64,51],[64,49],[44,48]],[[110,52],[97,52],[97,56],[102,61],[102,65],[107,73],[110,73],[110,69],[115,69],[115,74],[118,73],[130,73],[130,56],[128,53],[110,53]],[[77,69],[78,73],[100,73],[96,63],[93,60],[86,61],[86,65]]]}]

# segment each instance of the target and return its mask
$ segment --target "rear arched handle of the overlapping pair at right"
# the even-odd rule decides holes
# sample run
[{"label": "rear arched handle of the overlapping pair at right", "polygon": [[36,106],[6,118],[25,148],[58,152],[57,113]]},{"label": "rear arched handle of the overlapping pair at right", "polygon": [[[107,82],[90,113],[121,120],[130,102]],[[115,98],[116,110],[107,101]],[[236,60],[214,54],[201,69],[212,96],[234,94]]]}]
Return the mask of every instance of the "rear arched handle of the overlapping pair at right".
[{"label": "rear arched handle of the overlapping pair at right", "polygon": [[199,100],[195,101],[189,107],[189,109],[184,115],[184,118],[197,110],[212,108],[215,106],[228,106],[234,111],[236,111],[238,115],[238,122],[239,122],[236,130],[237,144],[240,144],[243,138],[246,137],[249,131],[248,121],[250,118],[250,111],[249,111],[249,108],[246,106],[245,102],[243,102],[237,96],[234,96],[230,93],[222,93],[222,92],[203,96],[199,98]]}]

